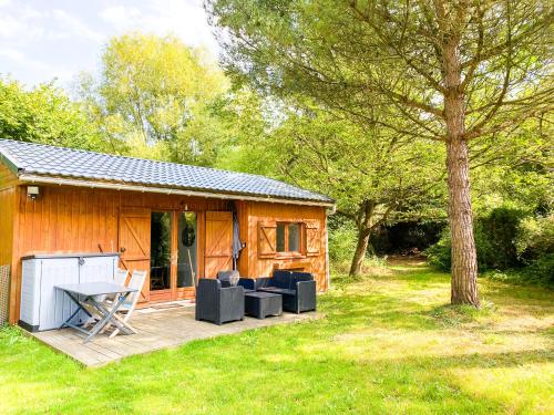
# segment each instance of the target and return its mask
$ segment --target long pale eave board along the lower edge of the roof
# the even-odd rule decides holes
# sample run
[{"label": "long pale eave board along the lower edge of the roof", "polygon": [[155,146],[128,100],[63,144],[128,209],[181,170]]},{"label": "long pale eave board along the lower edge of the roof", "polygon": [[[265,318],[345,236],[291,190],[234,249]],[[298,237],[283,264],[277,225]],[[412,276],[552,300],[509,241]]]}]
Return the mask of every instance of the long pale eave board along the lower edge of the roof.
[{"label": "long pale eave board along the lower edge of the roof", "polygon": [[186,188],[144,186],[140,184],[129,184],[129,183],[122,184],[113,181],[98,181],[98,180],[95,181],[86,178],[84,179],[66,178],[66,177],[48,176],[39,174],[25,174],[24,172],[20,172],[18,176],[22,183],[32,183],[32,184],[60,185],[60,186],[63,185],[63,186],[76,186],[76,187],[89,187],[89,188],[103,188],[112,190],[158,193],[165,195],[196,196],[196,197],[217,198],[227,200],[239,199],[239,200],[266,201],[266,203],[278,203],[278,204],[289,204],[289,205],[320,206],[331,209],[335,208],[334,201],[325,201],[325,200],[293,199],[293,198],[281,198],[273,196],[255,196],[248,194],[205,191],[205,190],[186,189]]}]

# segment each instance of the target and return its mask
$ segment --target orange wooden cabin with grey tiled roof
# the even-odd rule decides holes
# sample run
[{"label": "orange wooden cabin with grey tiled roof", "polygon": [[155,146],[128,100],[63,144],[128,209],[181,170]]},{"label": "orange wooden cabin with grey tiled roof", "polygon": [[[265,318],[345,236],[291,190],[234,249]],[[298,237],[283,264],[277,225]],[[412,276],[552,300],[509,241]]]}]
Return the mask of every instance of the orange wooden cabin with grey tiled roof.
[{"label": "orange wooden cabin with grey tiled roof", "polygon": [[332,208],[263,176],[0,139],[8,319],[19,320],[30,255],[119,252],[121,268],[148,270],[142,305],[193,298],[198,278],[234,267],[250,278],[312,272],[325,291]]}]

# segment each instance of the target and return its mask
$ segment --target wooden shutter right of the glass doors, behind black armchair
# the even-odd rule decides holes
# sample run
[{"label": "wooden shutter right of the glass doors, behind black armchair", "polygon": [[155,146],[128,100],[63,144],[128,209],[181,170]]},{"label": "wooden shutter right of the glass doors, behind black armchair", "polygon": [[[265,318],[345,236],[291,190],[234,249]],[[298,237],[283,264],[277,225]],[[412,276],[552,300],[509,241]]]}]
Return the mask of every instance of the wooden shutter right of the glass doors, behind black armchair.
[{"label": "wooden shutter right of the glass doors, behind black armchair", "polygon": [[204,273],[215,278],[218,271],[233,269],[233,214],[206,211],[206,255]]}]

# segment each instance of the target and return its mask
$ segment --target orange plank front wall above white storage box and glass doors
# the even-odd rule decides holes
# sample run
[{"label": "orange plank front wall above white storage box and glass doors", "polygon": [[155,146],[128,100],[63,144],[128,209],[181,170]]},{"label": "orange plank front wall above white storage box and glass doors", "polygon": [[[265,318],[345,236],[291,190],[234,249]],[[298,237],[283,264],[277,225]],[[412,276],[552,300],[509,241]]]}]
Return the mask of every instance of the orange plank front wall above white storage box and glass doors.
[{"label": "orange plank front wall above white storage box and glass doors", "polygon": [[[226,210],[228,201],[163,194],[117,191],[65,186],[40,186],[37,200],[27,197],[25,187],[16,204],[13,249],[14,271],[10,321],[19,320],[21,257],[31,253],[119,251],[119,215],[124,208],[152,210],[192,210],[203,220],[206,210]],[[3,208],[2,208],[3,214]],[[198,258],[199,274],[204,261]]]}]

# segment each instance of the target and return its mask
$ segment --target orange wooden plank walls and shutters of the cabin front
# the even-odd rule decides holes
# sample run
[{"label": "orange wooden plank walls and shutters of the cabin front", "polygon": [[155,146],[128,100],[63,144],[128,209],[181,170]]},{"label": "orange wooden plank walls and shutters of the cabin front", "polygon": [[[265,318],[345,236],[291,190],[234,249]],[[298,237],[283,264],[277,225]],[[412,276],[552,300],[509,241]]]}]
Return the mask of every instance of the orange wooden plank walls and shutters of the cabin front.
[{"label": "orange wooden plank walls and shutters of the cabin front", "polygon": [[[10,185],[17,184],[13,176],[10,180]],[[0,183],[6,184],[8,180]],[[140,257],[143,260],[141,267],[150,268],[150,258],[146,258],[150,256],[151,211],[173,211],[176,215],[176,212],[188,210],[197,214],[197,258],[201,278],[214,277],[218,269],[232,267],[233,227],[228,200],[69,186],[40,186],[39,198],[31,200],[27,197],[25,186],[7,186],[4,190],[0,190],[1,200],[12,200],[12,203],[1,205],[0,224],[2,230],[7,229],[8,234],[13,236],[11,239],[13,243],[10,248],[9,238],[8,241],[0,241],[3,243],[0,245],[0,258],[8,262],[11,258],[12,263],[10,292],[10,322],[12,323],[19,319],[21,257],[31,253],[119,252],[122,246],[129,248],[127,240],[140,239],[143,249],[134,248],[140,249]],[[254,201],[236,201],[235,205],[240,240],[246,242],[246,248],[242,251],[238,261],[242,276],[250,278],[271,276],[277,268],[300,263],[304,264],[304,269],[314,272],[319,290],[327,289],[325,208]],[[129,229],[124,229],[126,225],[122,225],[124,220],[122,216],[125,218],[129,215],[138,214],[143,215],[143,221],[137,226],[140,229],[135,230],[141,235],[137,234],[135,238],[127,231]],[[138,219],[127,218],[127,220]],[[319,245],[319,253],[316,253],[314,246],[310,248],[310,255],[300,258],[258,258],[259,220],[316,224],[317,238],[320,240],[312,242],[315,246]],[[175,241],[173,242],[175,245]],[[209,252],[208,256],[206,256],[206,250]],[[127,253],[129,256],[124,257],[127,257],[129,261],[131,252]],[[215,260],[215,258],[218,259]],[[143,293],[146,295],[145,291]],[[178,298],[192,298],[194,289],[179,290],[177,294]],[[148,300],[152,302],[156,299],[151,293]]]}]

